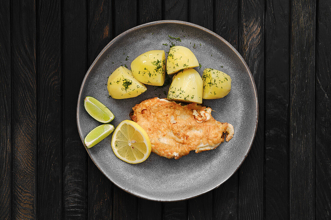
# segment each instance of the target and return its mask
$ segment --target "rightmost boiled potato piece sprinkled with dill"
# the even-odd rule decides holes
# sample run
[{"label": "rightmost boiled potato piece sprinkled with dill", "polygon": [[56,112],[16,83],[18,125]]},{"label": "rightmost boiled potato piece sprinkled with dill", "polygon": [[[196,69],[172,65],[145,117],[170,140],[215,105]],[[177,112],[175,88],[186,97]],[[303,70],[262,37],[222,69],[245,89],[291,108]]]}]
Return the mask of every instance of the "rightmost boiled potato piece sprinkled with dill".
[{"label": "rightmost boiled potato piece sprinkled with dill", "polygon": [[231,90],[231,78],[222,71],[207,68],[202,74],[204,99],[223,98]]}]

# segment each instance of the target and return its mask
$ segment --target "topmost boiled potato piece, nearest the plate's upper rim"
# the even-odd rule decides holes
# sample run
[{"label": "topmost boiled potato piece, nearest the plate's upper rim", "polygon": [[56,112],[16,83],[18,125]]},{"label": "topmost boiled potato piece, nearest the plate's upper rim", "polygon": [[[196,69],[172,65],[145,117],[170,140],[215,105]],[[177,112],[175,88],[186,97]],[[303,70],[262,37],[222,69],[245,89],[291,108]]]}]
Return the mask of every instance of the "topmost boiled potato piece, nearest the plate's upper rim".
[{"label": "topmost boiled potato piece, nearest the plate's upper rim", "polygon": [[177,73],[181,69],[199,66],[199,62],[192,51],[183,46],[174,46],[170,49],[166,62],[168,74]]}]

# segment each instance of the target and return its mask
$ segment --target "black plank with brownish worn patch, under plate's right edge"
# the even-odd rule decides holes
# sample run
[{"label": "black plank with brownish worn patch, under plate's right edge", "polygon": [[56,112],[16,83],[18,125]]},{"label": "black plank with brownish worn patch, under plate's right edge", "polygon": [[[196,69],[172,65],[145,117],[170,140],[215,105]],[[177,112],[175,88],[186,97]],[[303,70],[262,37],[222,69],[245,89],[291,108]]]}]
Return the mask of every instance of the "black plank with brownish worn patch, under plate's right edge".
[{"label": "black plank with brownish worn patch, under plate's right edge", "polygon": [[259,123],[252,149],[238,170],[238,218],[263,218],[264,151],[264,1],[240,0],[239,52],[255,80],[259,99]]}]

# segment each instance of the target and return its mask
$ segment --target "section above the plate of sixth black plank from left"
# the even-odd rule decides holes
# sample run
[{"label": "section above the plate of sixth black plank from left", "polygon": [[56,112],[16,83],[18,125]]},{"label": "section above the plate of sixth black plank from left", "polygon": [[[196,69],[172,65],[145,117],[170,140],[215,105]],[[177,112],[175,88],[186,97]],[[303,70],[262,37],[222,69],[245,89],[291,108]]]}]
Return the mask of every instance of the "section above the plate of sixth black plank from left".
[{"label": "section above the plate of sixth black plank from left", "polygon": [[136,0],[113,0],[114,1],[114,37],[122,32],[137,26],[137,1]]}]

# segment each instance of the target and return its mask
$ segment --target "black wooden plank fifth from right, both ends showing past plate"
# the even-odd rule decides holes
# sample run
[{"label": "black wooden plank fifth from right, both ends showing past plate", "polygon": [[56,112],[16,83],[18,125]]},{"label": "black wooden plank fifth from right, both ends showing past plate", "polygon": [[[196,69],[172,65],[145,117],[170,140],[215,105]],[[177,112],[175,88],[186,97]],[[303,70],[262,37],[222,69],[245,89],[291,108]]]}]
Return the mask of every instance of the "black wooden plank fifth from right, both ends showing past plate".
[{"label": "black wooden plank fifth from right, both ends showing past plate", "polygon": [[[214,2],[213,30],[238,50],[238,0]],[[213,218],[238,219],[238,172],[213,190]]]}]

